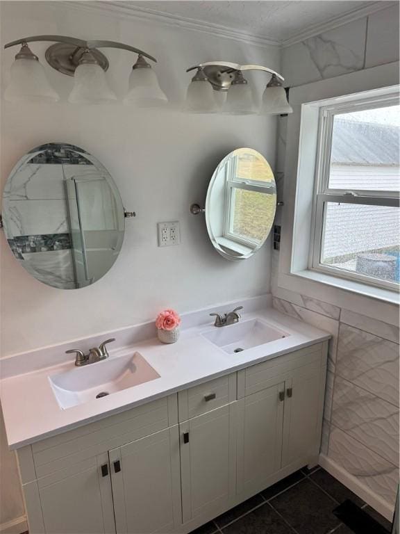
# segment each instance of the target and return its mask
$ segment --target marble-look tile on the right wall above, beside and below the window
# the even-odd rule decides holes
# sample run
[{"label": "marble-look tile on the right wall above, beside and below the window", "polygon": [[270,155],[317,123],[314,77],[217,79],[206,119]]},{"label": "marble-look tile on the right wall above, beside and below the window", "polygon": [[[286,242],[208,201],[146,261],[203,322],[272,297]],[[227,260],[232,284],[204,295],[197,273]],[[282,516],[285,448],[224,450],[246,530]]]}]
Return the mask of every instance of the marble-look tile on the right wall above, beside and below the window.
[{"label": "marble-look tile on the right wall above, beside and below the window", "polygon": [[[288,85],[301,86],[398,59],[397,4],[283,49],[282,68]],[[294,184],[296,176],[285,176],[291,157],[287,123],[288,118],[280,118],[276,174],[280,195],[289,204],[283,184]],[[326,467],[390,518],[399,480],[398,307],[365,298],[360,313],[354,313],[349,310],[360,299],[351,293],[338,306],[326,302],[323,284],[317,298],[289,291],[278,284],[279,254],[273,252],[274,306],[332,334],[322,436]],[[392,323],[380,321],[383,316]]]}]

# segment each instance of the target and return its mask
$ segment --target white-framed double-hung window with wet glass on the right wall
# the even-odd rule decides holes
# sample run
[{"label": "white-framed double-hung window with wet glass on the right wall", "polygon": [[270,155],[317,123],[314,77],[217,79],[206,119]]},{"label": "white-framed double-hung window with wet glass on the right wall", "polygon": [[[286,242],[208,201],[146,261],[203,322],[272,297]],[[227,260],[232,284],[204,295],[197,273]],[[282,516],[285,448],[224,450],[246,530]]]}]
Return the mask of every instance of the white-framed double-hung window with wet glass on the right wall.
[{"label": "white-framed double-hung window with wet glass on the right wall", "polygon": [[399,97],[319,108],[310,268],[399,289]]}]

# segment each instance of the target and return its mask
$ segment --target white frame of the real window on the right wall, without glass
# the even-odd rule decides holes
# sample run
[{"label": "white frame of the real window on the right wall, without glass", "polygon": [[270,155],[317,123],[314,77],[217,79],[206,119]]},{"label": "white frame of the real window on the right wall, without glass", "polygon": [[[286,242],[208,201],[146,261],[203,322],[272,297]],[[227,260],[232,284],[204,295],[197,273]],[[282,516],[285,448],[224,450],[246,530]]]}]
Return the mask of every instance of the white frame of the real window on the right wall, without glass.
[{"label": "white frame of the real window on the right wall, without glass", "polygon": [[382,108],[399,105],[398,91],[387,95],[372,95],[369,98],[357,98],[349,102],[333,102],[319,108],[319,133],[317,141],[317,161],[315,167],[315,189],[313,198],[313,216],[310,239],[310,254],[308,268],[319,273],[326,273],[347,280],[356,280],[363,284],[378,286],[392,291],[399,290],[397,282],[379,280],[350,270],[322,264],[321,253],[324,243],[324,207],[327,202],[341,204],[365,204],[374,206],[399,207],[398,191],[372,191],[372,190],[344,190],[329,188],[329,175],[331,170],[332,133],[335,115],[365,111],[367,109]]}]

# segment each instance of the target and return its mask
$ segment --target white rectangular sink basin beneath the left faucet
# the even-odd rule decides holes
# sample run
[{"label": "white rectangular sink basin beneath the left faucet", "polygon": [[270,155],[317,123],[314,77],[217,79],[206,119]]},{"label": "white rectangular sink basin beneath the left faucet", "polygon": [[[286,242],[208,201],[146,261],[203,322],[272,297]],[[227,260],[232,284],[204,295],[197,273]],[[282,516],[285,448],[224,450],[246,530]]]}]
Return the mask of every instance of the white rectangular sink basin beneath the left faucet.
[{"label": "white rectangular sink basin beneath the left faucet", "polygon": [[[64,410],[155,378],[160,378],[157,371],[140,353],[134,353],[76,367],[49,376],[49,381],[58,405]],[[97,397],[99,394],[106,395]]]}]

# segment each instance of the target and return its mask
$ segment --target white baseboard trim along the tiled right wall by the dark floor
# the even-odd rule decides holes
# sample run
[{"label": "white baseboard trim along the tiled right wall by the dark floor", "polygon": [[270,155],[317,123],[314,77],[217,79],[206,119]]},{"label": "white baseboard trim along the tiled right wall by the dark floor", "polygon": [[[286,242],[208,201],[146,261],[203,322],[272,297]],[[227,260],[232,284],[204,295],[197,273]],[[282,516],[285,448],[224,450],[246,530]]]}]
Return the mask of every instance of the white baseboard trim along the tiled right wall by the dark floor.
[{"label": "white baseboard trim along the tiled right wall by the dark floor", "polygon": [[331,458],[328,458],[328,456],[320,454],[319,465],[328,471],[329,474],[337,478],[339,482],[351,489],[353,493],[358,495],[360,499],[363,499],[369,506],[372,506],[374,510],[383,515],[388,521],[393,521],[394,505],[390,505],[381,496],[374,493],[372,489],[360,483],[358,478],[351,475],[346,469],[343,469],[343,467],[331,460]]}]

